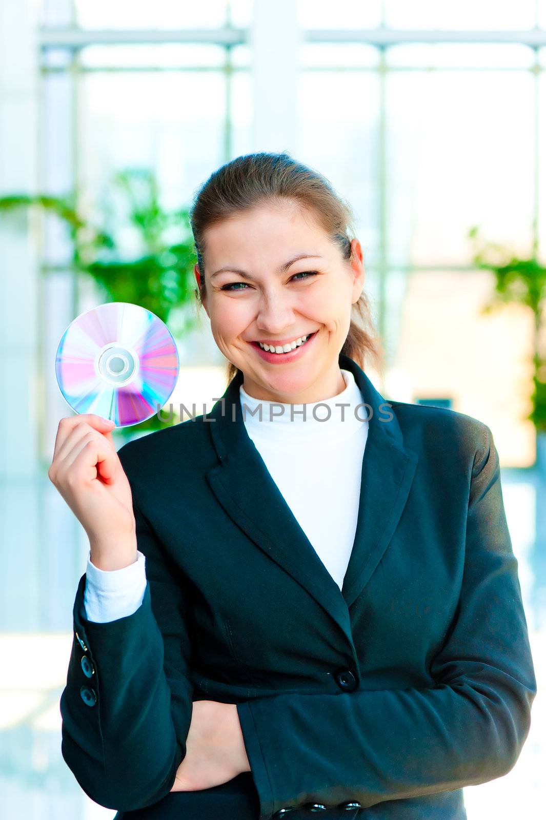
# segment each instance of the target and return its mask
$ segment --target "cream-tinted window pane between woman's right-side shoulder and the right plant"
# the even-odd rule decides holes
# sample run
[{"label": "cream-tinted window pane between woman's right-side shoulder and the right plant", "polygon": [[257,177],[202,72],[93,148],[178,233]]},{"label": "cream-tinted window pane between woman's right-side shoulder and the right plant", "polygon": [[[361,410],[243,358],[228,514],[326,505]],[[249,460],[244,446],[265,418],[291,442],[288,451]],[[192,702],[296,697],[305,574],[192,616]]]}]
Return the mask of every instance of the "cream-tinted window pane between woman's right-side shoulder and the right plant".
[{"label": "cream-tinted window pane between woman's right-side shoulder and the right plant", "polygon": [[503,466],[530,467],[535,428],[524,417],[530,411],[533,317],[520,305],[482,315],[493,288],[489,271],[410,274],[394,362],[407,378],[407,400],[452,399],[453,410],[494,430]]}]

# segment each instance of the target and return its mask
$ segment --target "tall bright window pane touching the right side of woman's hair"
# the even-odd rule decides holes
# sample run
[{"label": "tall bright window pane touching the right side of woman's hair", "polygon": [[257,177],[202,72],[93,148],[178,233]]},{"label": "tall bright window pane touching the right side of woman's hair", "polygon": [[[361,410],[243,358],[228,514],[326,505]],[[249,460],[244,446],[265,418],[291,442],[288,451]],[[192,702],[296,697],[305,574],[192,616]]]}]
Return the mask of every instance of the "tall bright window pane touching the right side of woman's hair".
[{"label": "tall bright window pane touching the right side of woman's hair", "polygon": [[379,78],[360,71],[303,72],[298,95],[298,159],[348,200],[365,262],[373,265],[379,248]]}]

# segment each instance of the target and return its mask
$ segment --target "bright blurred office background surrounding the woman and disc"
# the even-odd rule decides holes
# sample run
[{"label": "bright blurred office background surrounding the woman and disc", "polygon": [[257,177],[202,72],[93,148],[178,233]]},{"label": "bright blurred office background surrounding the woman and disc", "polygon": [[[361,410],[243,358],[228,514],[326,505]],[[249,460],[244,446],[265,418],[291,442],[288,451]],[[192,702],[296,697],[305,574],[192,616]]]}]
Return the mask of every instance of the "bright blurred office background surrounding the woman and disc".
[{"label": "bright blurred office background surrounding the woman and disc", "polygon": [[[260,150],[288,150],[353,206],[386,352],[378,389],[493,430],[546,682],[546,0],[0,0],[2,820],[114,816],[61,758],[89,546],[47,476],[71,415],[57,344],[106,301],[84,270],[100,256],[93,230],[116,235],[118,262],[143,254],[112,180],[132,169],[176,213],[218,166]],[[7,207],[38,194],[57,210]],[[58,203],[82,220],[79,270]],[[180,225],[159,250],[183,241]],[[511,260],[509,298],[487,312]],[[204,312],[171,308],[171,402],[203,412],[225,389],[225,360]],[[465,790],[469,820],[544,817],[544,700],[512,771]]]}]

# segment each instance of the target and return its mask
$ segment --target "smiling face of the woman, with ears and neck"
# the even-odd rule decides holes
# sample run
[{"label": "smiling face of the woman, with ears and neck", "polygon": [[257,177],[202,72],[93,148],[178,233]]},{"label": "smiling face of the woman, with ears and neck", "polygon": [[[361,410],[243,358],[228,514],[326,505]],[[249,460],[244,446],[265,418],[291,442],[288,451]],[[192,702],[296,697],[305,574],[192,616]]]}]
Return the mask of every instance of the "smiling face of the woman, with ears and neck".
[{"label": "smiling face of the woman, with ears and neck", "polygon": [[[339,351],[365,276],[358,240],[353,260],[344,260],[312,212],[297,203],[239,213],[208,228],[205,239],[203,307],[216,344],[243,371],[247,393],[284,403],[339,394],[345,387]],[[197,265],[194,273],[199,280]],[[258,341],[292,344],[289,353],[267,353]]]}]

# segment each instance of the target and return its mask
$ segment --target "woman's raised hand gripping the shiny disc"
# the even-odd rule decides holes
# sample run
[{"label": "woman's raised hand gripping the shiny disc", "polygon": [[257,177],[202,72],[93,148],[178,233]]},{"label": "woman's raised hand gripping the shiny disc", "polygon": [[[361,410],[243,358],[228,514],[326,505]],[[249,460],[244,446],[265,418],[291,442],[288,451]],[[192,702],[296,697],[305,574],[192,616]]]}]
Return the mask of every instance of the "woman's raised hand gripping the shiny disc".
[{"label": "woman's raised hand gripping the shiny disc", "polygon": [[111,437],[113,425],[93,413],[61,418],[48,478],[89,536],[102,569],[136,561],[130,484]]}]

